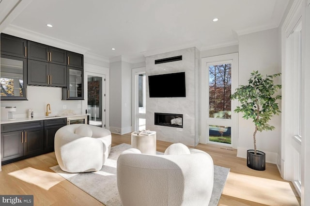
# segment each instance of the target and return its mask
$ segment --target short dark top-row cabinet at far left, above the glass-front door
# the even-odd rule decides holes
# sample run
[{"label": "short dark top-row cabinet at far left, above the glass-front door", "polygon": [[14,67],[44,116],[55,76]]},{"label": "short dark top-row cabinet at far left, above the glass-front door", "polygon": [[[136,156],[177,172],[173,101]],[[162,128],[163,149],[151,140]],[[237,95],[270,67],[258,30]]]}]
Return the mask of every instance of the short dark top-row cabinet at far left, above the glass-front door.
[{"label": "short dark top-row cabinet at far left, above the glass-front door", "polygon": [[1,33],[1,54],[27,58],[27,40]]}]

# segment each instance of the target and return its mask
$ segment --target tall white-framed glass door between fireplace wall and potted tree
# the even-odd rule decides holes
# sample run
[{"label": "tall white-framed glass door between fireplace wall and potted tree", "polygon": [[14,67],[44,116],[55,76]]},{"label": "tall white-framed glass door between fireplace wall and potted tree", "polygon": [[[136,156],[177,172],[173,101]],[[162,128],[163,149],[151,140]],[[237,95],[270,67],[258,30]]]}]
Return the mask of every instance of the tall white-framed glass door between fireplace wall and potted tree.
[{"label": "tall white-framed glass door between fireplace wall and potted tree", "polygon": [[202,58],[201,143],[233,146],[237,138],[237,102],[231,101],[238,85],[238,54]]}]

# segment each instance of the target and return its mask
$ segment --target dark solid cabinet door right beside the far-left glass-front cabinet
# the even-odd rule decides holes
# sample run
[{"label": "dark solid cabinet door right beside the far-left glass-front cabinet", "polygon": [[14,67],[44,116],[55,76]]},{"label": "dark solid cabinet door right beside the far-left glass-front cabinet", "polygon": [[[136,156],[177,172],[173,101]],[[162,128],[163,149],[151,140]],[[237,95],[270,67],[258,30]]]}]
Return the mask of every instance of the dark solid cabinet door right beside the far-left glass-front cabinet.
[{"label": "dark solid cabinet door right beside the far-left glass-front cabinet", "polygon": [[47,86],[48,63],[28,60],[28,84]]}]

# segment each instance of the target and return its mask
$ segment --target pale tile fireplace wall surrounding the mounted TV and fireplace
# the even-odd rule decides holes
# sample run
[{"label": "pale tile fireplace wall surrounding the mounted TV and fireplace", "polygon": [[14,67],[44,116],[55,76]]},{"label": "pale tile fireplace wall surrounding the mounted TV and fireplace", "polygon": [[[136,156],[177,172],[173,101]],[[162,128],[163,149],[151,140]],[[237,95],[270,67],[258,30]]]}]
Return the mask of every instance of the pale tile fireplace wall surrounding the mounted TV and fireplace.
[{"label": "pale tile fireplace wall surrounding the mounted TV and fireplace", "polygon": [[[195,125],[197,51],[195,47],[171,51],[146,57],[146,128],[156,131],[157,140],[171,143],[184,143],[195,146],[198,141],[197,125]],[[199,52],[199,51],[198,51]],[[182,60],[158,63],[155,60],[182,55]],[[196,61],[195,61],[196,60]],[[148,76],[185,72],[186,97],[153,97],[150,98]],[[172,80],[172,79],[171,79]],[[155,113],[182,115],[182,127],[155,125]],[[180,122],[180,118],[172,120]]]}]

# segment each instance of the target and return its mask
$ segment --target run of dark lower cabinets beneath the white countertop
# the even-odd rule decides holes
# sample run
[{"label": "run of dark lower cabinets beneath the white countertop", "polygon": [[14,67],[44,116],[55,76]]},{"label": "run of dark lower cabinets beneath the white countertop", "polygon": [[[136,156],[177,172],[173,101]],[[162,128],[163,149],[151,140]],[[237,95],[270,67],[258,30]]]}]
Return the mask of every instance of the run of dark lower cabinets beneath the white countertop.
[{"label": "run of dark lower cabinets beneath the white countertop", "polygon": [[1,125],[1,164],[54,151],[56,131],[66,118]]}]

